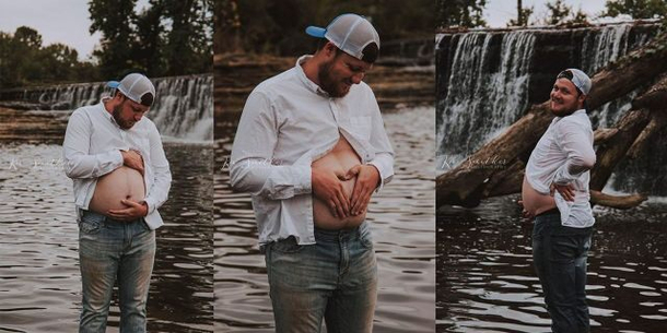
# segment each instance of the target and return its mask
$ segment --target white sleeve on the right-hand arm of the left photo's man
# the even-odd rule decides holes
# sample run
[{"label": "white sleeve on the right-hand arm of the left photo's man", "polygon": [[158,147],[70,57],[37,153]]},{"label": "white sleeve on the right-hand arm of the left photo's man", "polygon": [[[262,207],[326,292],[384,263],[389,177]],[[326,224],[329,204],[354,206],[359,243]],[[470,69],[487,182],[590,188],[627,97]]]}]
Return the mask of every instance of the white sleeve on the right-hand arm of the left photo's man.
[{"label": "white sleeve on the right-hand arm of the left photo's man", "polygon": [[172,188],[172,171],[169,169],[169,162],[164,153],[164,147],[162,146],[160,132],[157,132],[154,124],[149,132],[149,143],[151,150],[150,163],[154,178],[144,202],[149,206],[148,213],[151,214],[161,207],[168,198],[169,189]]}]

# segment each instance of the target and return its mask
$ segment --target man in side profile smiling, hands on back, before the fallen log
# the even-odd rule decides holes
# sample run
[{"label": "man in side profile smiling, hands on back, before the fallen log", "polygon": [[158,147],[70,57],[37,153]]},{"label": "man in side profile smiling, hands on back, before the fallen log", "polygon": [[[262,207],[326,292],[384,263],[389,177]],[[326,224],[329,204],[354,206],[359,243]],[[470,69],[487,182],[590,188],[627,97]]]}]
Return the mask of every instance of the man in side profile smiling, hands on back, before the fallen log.
[{"label": "man in side profile smiling, hands on back, before the fallen log", "polygon": [[581,70],[557,76],[550,103],[555,118],[530,154],[522,190],[525,214],[535,216],[533,258],[555,333],[589,331],[585,288],[595,151],[585,107],[590,86]]}]

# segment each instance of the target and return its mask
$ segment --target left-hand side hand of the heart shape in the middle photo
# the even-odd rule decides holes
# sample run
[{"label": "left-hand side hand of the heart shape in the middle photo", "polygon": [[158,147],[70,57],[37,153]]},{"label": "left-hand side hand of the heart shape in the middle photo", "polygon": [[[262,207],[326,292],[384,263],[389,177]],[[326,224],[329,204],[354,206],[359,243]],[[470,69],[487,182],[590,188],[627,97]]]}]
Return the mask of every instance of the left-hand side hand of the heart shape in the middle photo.
[{"label": "left-hand side hand of the heart shape in the middle photo", "polygon": [[327,203],[331,214],[337,218],[350,216],[350,199],[343,191],[341,180],[347,180],[346,175],[336,175],[330,171],[312,169],[311,182],[313,193],[323,202]]}]

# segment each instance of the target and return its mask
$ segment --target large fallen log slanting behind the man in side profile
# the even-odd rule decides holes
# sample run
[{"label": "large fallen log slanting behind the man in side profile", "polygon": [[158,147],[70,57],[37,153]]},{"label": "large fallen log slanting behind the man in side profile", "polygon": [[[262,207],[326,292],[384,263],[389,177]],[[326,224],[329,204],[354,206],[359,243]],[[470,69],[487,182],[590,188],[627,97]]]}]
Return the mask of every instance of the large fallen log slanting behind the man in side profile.
[{"label": "large fallen log slanting behind the man in side profile", "polygon": [[[653,82],[660,73],[667,72],[666,45],[667,34],[664,34],[645,47],[601,69],[593,76],[593,91],[588,98],[589,108],[597,108],[623,96]],[[508,183],[506,170],[517,170],[515,164],[527,162],[530,152],[552,118],[548,102],[531,106],[526,115],[508,127],[504,133],[479,148],[454,169],[438,176],[436,178],[436,206],[453,204],[471,207],[479,205],[484,198],[520,191],[520,181],[516,181],[518,177],[510,177],[511,182]],[[641,130],[636,135],[640,132]],[[634,139],[624,151],[633,142]],[[624,152],[622,157],[624,157]],[[488,167],[475,163],[480,160],[495,160],[502,164]],[[616,166],[616,163],[612,165]],[[605,179],[606,182],[608,176],[605,177],[602,174],[598,176],[598,179]]]}]

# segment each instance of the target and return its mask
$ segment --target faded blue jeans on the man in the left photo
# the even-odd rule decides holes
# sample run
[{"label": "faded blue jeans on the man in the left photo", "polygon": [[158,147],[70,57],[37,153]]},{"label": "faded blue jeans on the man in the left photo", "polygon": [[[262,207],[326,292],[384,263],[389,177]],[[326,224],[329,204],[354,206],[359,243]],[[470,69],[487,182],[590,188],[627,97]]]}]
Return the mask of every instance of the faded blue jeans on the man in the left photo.
[{"label": "faded blue jeans on the man in the left photo", "polygon": [[79,332],[105,332],[116,282],[120,332],[145,332],[145,304],[154,258],[155,231],[143,218],[120,222],[82,211],[79,260],[83,309]]}]

